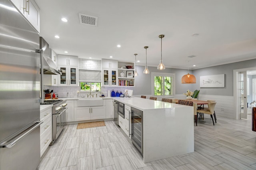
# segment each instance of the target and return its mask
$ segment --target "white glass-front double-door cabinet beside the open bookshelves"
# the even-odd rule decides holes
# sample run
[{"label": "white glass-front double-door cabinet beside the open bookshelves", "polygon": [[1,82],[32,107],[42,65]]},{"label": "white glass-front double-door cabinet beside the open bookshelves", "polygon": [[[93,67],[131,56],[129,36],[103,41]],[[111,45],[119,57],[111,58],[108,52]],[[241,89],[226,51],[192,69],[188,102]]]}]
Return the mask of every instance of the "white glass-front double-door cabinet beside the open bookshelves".
[{"label": "white glass-front double-door cabinet beside the open bookshelves", "polygon": [[117,69],[102,69],[102,86],[118,86],[117,73]]}]

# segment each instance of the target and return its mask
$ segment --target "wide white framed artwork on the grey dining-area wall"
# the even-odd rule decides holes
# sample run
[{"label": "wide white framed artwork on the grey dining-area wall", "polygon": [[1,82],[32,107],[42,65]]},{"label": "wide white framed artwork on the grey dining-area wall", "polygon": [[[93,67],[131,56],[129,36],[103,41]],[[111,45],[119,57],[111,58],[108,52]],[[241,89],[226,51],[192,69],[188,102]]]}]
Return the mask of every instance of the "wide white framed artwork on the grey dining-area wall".
[{"label": "wide white framed artwork on the grey dining-area wall", "polygon": [[200,87],[225,87],[225,74],[200,76]]}]

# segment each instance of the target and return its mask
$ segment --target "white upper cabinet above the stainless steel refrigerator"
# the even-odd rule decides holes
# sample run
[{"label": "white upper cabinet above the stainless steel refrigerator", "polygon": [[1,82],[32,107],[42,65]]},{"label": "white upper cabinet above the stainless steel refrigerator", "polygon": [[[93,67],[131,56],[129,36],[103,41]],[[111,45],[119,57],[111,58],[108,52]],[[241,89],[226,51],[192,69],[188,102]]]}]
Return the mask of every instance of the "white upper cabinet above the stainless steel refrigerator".
[{"label": "white upper cabinet above the stainless steel refrigerator", "polygon": [[11,0],[30,24],[40,32],[40,11],[34,0]]}]

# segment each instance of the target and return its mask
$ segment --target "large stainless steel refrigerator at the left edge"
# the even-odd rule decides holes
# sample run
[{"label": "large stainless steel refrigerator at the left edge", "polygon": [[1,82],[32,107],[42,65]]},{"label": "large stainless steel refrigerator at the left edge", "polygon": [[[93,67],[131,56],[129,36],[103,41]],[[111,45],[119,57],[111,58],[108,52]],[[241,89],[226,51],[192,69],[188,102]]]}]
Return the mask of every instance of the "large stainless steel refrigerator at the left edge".
[{"label": "large stainless steel refrigerator at the left edge", "polygon": [[40,163],[39,34],[8,0],[0,0],[0,170]]}]

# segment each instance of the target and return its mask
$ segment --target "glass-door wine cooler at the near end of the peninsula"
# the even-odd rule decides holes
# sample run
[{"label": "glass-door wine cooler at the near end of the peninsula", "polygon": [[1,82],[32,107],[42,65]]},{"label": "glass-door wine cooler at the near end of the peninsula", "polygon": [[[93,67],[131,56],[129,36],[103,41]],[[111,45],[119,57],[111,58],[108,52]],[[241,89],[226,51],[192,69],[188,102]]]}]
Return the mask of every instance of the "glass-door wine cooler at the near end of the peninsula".
[{"label": "glass-door wine cooler at the near end of the peninsula", "polygon": [[143,156],[143,111],[131,107],[131,140]]}]

